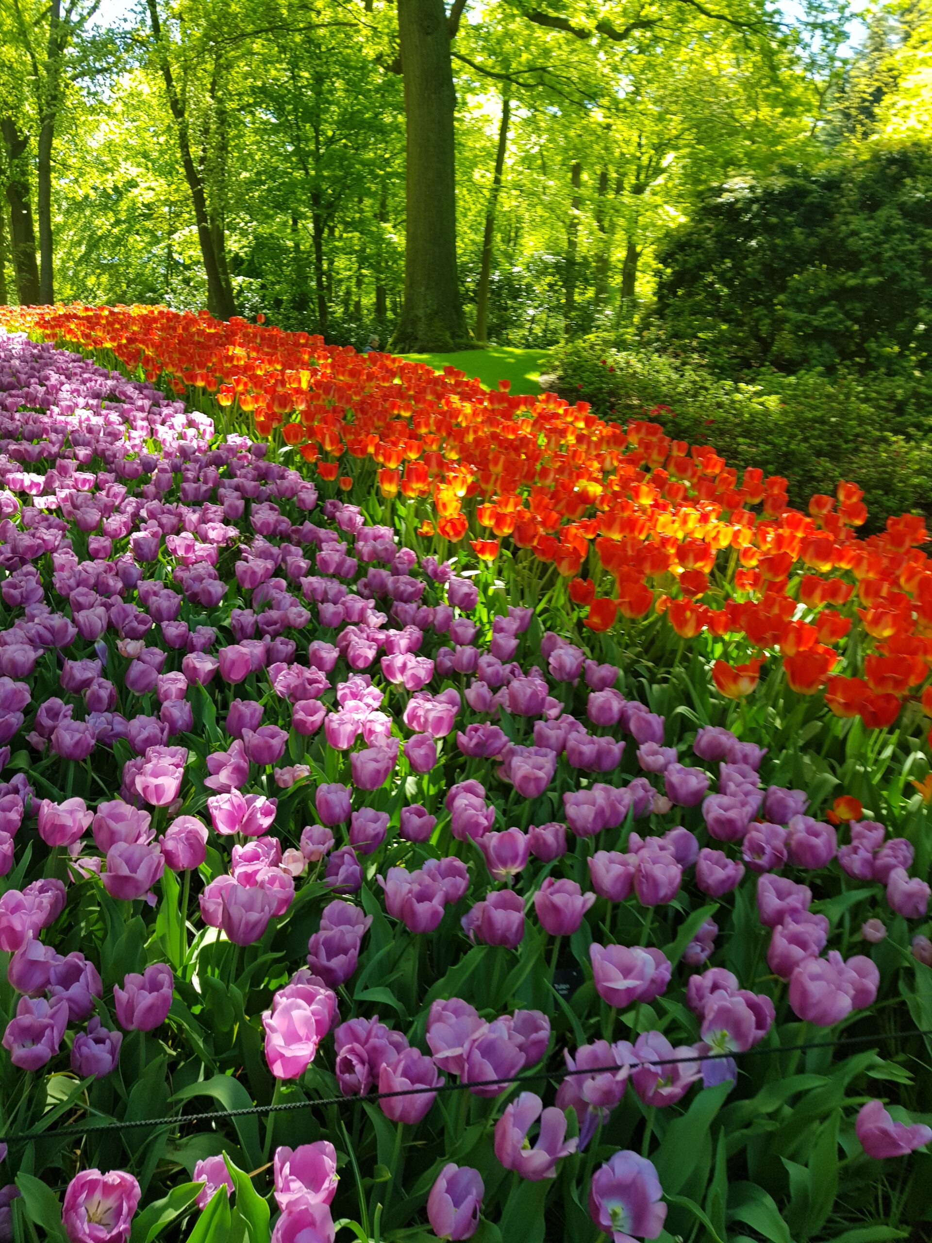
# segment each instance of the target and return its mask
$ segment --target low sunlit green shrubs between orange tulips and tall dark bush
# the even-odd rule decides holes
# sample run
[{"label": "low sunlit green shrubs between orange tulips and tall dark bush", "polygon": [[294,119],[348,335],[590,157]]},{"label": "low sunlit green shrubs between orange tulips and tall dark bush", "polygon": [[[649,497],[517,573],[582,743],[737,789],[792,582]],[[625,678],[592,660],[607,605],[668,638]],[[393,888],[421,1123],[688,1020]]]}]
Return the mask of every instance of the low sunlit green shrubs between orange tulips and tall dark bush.
[{"label": "low sunlit green shrubs between orange tulips and tall dark bush", "polygon": [[547,369],[563,397],[589,401],[601,418],[651,419],[677,440],[715,445],[732,466],[785,476],[803,508],[846,479],[864,488],[872,527],[891,513],[932,515],[928,382],[762,369],[741,383],[700,362],[592,337],[553,351]]}]

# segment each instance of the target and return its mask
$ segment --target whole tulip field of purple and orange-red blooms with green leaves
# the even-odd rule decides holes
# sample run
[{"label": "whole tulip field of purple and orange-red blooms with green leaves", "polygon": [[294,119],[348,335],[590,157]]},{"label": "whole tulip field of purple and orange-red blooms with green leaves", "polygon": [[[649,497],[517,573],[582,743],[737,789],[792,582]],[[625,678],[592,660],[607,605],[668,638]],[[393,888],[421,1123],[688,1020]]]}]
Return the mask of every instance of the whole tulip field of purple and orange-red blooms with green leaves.
[{"label": "whole tulip field of purple and orange-red blooms with green leaves", "polygon": [[928,538],[0,307],[0,1239],[932,1237]]}]

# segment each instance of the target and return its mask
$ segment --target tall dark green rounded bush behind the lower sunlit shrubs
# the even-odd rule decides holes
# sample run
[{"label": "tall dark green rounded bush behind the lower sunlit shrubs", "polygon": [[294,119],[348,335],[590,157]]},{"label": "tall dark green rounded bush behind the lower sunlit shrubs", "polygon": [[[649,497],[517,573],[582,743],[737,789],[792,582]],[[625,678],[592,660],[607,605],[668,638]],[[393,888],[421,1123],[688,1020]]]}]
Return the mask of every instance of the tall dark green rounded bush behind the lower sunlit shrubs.
[{"label": "tall dark green rounded bush behind the lower sunlit shrubs", "polygon": [[732,373],[928,372],[932,147],[711,190],[661,246],[657,316]]}]

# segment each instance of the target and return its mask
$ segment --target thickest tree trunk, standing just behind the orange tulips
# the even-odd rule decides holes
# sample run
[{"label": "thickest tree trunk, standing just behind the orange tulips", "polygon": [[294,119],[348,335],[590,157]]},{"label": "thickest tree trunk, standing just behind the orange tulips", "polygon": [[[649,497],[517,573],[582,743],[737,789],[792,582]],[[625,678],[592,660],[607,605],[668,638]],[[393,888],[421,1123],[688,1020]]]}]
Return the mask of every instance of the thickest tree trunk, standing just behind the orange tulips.
[{"label": "thickest tree trunk, standing just behind the orange tulips", "polygon": [[456,93],[444,0],[398,0],[406,121],[405,292],[399,353],[462,349],[456,270]]}]

